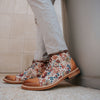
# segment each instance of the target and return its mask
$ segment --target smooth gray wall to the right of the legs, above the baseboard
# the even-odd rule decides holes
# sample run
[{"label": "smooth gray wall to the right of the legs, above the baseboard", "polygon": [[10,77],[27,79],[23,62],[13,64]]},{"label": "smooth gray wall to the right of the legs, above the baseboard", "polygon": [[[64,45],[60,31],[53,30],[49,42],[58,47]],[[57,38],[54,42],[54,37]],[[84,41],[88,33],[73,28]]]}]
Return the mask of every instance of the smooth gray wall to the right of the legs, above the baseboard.
[{"label": "smooth gray wall to the right of the legs, above the baseboard", "polygon": [[[64,0],[64,3],[70,31],[64,30],[69,36],[72,56],[84,76],[100,77],[100,0]],[[65,20],[64,25],[67,23]]]}]

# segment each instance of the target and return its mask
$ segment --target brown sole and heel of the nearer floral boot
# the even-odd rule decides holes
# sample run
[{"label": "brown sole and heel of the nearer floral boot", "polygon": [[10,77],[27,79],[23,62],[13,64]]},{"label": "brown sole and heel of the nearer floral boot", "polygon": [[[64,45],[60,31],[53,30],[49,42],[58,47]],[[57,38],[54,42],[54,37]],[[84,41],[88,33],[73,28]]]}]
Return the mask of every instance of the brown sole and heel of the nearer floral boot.
[{"label": "brown sole and heel of the nearer floral boot", "polygon": [[66,78],[73,78],[75,76],[77,76],[80,73],[79,68],[76,68],[75,70],[73,70],[72,72],[66,74],[65,76],[63,76],[62,78],[60,78],[58,81],[56,81],[53,84],[47,85],[47,86],[26,86],[26,85],[22,85],[21,88],[25,89],[25,90],[46,90],[46,89],[50,89],[52,87],[55,87],[56,85],[58,85],[62,80],[66,79]]}]

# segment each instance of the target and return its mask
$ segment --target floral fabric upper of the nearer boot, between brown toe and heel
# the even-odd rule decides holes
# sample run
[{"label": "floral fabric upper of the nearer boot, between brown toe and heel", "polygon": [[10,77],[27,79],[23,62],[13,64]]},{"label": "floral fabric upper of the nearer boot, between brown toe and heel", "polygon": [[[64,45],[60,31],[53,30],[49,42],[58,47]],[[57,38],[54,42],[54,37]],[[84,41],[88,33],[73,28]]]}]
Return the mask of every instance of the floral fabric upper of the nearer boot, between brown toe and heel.
[{"label": "floral fabric upper of the nearer boot, between brown toe and heel", "polygon": [[40,85],[52,84],[65,74],[68,74],[71,71],[71,59],[72,58],[68,52],[53,55],[50,58],[46,70],[38,78]]}]

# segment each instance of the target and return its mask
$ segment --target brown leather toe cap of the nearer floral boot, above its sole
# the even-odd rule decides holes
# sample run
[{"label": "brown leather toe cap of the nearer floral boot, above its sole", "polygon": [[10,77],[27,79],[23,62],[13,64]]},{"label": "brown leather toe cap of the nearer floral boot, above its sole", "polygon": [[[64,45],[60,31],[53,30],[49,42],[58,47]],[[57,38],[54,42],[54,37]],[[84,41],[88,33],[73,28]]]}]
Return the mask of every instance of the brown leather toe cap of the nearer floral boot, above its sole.
[{"label": "brown leather toe cap of the nearer floral boot, above its sole", "polygon": [[23,84],[27,86],[40,86],[40,82],[38,78],[27,79],[24,81]]}]

